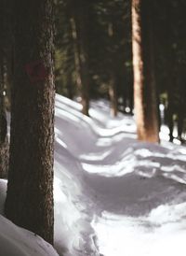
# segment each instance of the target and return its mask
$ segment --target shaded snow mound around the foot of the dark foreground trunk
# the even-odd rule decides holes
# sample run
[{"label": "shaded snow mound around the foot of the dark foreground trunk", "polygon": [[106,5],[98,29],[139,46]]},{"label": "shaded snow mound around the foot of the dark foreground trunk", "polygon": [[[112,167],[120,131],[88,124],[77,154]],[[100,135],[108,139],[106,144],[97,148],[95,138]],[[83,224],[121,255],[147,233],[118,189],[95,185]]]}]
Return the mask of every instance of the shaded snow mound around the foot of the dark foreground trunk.
[{"label": "shaded snow mound around the foot of the dark foreground trunk", "polygon": [[7,180],[0,179],[0,255],[57,256],[51,245],[38,235],[14,225],[3,216]]}]

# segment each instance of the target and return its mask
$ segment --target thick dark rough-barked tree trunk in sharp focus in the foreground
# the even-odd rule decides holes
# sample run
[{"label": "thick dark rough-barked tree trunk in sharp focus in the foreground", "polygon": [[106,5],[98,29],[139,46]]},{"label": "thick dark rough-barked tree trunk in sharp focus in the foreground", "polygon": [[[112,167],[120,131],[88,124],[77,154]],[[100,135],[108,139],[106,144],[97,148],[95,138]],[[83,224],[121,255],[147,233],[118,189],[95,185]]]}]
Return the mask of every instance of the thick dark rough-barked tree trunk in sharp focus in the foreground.
[{"label": "thick dark rough-barked tree trunk in sharp focus in the foreground", "polygon": [[7,218],[53,243],[53,1],[14,1]]}]

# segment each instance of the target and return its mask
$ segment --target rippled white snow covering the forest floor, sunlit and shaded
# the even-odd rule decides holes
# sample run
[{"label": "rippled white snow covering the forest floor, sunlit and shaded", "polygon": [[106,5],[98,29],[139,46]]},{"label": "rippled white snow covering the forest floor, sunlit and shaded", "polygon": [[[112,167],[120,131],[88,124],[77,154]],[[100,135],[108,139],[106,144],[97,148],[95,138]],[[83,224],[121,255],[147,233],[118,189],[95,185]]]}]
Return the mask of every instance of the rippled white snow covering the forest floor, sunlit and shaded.
[{"label": "rippled white snow covering the forest floor, sunlit and shaded", "polygon": [[[186,148],[166,141],[161,146],[138,142],[133,119],[122,114],[111,119],[106,101],[92,102],[91,119],[80,110],[78,103],[57,94],[54,196],[58,253],[185,256]],[[1,206],[5,187],[1,186]],[[10,225],[6,219],[0,219],[1,227],[2,223]],[[34,249],[40,238],[35,239]],[[3,242],[0,235],[0,251]],[[48,250],[45,255],[56,255],[52,253]],[[29,250],[18,255],[44,254]]]}]

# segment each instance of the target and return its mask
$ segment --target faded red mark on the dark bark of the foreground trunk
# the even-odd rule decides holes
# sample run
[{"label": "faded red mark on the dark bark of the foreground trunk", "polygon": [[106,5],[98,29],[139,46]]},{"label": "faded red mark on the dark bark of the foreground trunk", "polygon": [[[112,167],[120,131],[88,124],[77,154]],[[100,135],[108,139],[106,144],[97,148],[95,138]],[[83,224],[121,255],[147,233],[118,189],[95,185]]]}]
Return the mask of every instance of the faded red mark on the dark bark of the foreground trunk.
[{"label": "faded red mark on the dark bark of the foreground trunk", "polygon": [[41,61],[36,61],[25,65],[26,73],[32,82],[45,80],[47,71]]}]

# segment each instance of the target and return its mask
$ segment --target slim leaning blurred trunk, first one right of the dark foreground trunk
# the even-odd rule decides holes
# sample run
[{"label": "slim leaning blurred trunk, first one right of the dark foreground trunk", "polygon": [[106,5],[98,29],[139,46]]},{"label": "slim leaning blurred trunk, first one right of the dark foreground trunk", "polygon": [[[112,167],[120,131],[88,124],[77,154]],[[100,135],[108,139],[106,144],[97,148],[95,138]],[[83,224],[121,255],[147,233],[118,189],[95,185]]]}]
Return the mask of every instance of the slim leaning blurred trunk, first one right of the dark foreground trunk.
[{"label": "slim leaning blurred trunk, first one right of the dark foreground trunk", "polygon": [[78,74],[78,84],[81,87],[82,112],[88,116],[89,109],[89,72],[87,54],[87,21],[88,3],[86,0],[80,2],[72,0],[73,14],[73,39],[75,50],[77,51],[76,66]]}]

